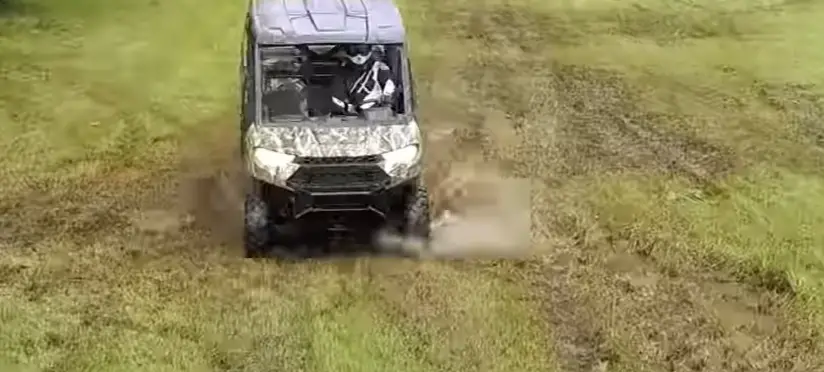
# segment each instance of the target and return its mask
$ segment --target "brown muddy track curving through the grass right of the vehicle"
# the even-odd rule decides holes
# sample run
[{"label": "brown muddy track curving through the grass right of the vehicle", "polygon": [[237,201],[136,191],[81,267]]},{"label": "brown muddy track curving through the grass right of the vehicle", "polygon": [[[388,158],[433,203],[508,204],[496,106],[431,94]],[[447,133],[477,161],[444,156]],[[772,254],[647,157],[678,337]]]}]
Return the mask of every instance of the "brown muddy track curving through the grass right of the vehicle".
[{"label": "brown muddy track curving through the grass right of the vehicle", "polygon": [[[732,151],[679,131],[677,120],[684,118],[644,112],[616,75],[559,66],[549,86],[564,93],[558,97],[573,98],[558,104],[557,120],[549,120],[554,127],[513,128],[522,136],[520,155],[502,151],[488,128],[463,133],[488,159],[508,160],[505,171],[539,174],[548,186],[534,197],[551,206],[533,206],[533,225],[542,226],[539,244],[548,252],[533,286],[543,294],[563,370],[822,367],[816,334],[799,333],[796,320],[786,317],[791,293],[749,287],[702,265],[675,271],[640,246],[654,243],[604,230],[580,205],[571,206],[575,215],[564,214],[570,211],[566,180],[593,171],[669,174],[716,195],[722,192],[717,180],[736,167]],[[555,160],[538,164],[528,154]]]}]

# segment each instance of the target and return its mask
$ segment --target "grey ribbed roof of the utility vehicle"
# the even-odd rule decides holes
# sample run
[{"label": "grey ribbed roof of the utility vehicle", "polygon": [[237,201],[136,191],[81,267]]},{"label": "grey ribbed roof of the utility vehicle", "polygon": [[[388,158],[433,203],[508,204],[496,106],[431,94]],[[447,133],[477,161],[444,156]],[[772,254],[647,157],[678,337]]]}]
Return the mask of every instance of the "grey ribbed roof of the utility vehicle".
[{"label": "grey ribbed roof of the utility vehicle", "polygon": [[393,0],[250,0],[259,44],[403,43]]}]

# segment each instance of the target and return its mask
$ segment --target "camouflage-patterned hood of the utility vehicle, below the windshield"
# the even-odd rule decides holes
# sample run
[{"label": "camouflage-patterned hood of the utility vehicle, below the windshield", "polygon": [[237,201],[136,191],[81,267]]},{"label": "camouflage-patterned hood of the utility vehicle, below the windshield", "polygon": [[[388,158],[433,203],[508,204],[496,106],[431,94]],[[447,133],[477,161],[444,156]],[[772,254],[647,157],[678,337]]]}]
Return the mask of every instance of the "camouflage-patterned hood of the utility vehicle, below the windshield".
[{"label": "camouflage-patterned hood of the utility vehicle, below the windshield", "polygon": [[377,155],[420,144],[421,133],[414,120],[380,125],[301,123],[254,125],[246,140],[248,148],[263,147],[302,157],[343,157]]}]

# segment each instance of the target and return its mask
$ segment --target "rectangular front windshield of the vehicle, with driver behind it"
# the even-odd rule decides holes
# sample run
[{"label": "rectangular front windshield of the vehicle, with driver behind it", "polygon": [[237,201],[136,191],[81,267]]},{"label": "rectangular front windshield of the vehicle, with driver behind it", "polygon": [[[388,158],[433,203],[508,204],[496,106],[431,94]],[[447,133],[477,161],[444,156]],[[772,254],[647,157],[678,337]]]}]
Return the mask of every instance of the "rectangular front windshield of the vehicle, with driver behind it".
[{"label": "rectangular front windshield of the vehicle, with driver behind it", "polygon": [[402,56],[399,45],[261,47],[263,120],[404,114]]}]

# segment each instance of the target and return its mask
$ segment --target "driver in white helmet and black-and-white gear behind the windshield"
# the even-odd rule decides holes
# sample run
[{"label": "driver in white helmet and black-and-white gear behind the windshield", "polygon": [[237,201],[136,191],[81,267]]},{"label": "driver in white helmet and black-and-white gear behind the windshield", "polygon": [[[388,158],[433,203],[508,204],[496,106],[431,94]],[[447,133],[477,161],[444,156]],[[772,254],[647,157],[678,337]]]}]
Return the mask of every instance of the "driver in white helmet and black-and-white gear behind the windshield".
[{"label": "driver in white helmet and black-and-white gear behind the windshield", "polygon": [[355,45],[343,50],[343,72],[332,90],[332,102],[348,114],[392,102],[395,82],[389,66],[383,62],[383,47]]}]

